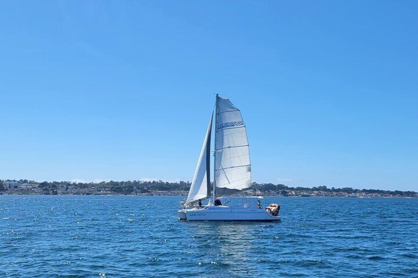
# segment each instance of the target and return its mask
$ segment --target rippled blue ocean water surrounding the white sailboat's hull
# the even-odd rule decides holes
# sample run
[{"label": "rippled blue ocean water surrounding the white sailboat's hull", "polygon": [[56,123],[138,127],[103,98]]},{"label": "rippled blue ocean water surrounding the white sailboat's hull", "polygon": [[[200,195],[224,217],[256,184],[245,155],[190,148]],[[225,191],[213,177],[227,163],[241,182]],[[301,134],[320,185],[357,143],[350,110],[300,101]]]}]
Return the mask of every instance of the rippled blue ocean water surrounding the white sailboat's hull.
[{"label": "rippled blue ocean water surrounding the white sailboat's hull", "polygon": [[182,198],[0,195],[0,277],[418,277],[418,199],[266,197],[260,223]]}]

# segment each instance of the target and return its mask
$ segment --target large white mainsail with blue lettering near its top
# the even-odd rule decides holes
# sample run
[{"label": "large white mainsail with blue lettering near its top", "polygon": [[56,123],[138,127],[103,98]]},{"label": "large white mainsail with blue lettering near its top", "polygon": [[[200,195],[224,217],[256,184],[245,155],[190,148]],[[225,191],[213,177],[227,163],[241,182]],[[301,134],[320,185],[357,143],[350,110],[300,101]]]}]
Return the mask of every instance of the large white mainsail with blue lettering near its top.
[{"label": "large white mainsail with blue lettering near its top", "polygon": [[216,128],[216,195],[251,186],[251,163],[241,111],[228,98],[218,97]]}]

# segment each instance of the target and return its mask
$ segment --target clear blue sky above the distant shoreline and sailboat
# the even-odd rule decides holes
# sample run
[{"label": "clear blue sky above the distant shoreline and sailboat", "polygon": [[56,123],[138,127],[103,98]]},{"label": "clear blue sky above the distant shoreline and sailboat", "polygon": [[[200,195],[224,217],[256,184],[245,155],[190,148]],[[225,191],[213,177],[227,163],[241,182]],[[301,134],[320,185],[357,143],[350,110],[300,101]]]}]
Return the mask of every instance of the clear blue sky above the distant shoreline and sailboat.
[{"label": "clear blue sky above the distant shoreline and sailboat", "polygon": [[418,190],[417,1],[1,1],[0,179],[189,180],[214,93],[253,181]]}]

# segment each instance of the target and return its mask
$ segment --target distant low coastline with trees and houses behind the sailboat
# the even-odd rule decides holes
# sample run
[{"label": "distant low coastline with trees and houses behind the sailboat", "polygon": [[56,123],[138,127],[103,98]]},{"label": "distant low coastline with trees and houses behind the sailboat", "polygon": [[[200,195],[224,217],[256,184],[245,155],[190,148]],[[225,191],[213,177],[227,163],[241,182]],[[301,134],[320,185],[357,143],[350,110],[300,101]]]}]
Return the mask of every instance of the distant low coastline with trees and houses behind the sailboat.
[{"label": "distant low coastline with trees and houses behind the sailboat", "polygon": [[[0,194],[54,194],[54,195],[187,195],[190,183],[163,181],[122,181],[101,183],[35,182],[28,180],[0,180]],[[325,185],[290,187],[286,185],[252,183],[240,195],[254,195],[256,190],[268,196],[329,196],[329,197],[407,197],[417,198],[415,191],[380,189],[328,188]]]}]

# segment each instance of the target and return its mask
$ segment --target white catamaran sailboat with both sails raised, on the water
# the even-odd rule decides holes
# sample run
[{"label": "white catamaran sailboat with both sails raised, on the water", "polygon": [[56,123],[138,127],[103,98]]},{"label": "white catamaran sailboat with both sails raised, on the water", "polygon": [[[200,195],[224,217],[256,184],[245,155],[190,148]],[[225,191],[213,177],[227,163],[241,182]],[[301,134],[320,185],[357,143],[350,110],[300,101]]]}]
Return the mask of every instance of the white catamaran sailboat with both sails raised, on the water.
[{"label": "white catamaran sailboat with both sails raised, on the water", "polygon": [[[213,183],[210,182],[210,141],[214,126]],[[262,209],[260,196],[257,206],[251,206],[244,197],[242,205],[232,205],[231,194],[251,187],[251,163],[246,127],[240,109],[228,98],[216,94],[215,106],[200,152],[187,199],[178,210],[182,220],[232,220],[274,221],[280,220],[279,207],[271,204]],[[226,199],[228,198],[228,199]],[[202,201],[209,199],[207,205]],[[224,202],[224,204],[222,204]],[[273,206],[272,206],[273,205]],[[274,206],[276,205],[276,207]],[[277,208],[275,213],[272,208]]]}]

